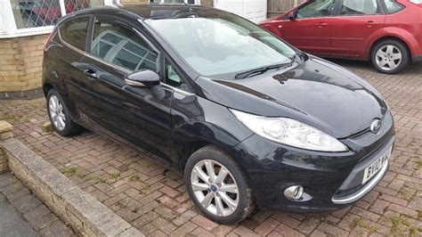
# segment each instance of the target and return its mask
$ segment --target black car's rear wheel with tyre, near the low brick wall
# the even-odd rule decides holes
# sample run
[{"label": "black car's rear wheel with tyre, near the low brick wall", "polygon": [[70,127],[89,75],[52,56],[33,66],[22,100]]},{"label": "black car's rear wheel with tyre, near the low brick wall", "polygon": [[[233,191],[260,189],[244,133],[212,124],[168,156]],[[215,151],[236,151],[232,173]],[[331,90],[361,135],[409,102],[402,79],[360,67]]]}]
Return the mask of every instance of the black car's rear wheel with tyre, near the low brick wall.
[{"label": "black car's rear wheel with tyre, near the low brick wall", "polygon": [[82,131],[82,127],[72,121],[68,107],[54,89],[47,94],[47,113],[54,130],[59,135],[76,135]]}]

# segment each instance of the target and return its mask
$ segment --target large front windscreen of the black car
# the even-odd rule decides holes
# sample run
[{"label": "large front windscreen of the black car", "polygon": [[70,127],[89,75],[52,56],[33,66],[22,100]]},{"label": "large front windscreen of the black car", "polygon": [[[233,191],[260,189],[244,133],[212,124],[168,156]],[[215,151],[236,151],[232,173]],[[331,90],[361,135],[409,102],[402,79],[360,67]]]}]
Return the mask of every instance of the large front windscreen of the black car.
[{"label": "large front windscreen of the black car", "polygon": [[236,73],[288,63],[296,53],[256,24],[234,14],[192,12],[145,22],[202,76]]}]

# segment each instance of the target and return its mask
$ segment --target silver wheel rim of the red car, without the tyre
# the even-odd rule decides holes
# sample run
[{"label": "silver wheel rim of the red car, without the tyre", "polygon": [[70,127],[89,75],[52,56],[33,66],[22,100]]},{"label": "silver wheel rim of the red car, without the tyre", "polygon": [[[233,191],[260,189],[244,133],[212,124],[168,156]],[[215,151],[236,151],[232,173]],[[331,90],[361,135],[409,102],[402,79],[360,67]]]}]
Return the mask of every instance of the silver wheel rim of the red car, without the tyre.
[{"label": "silver wheel rim of the red car, without the tyre", "polygon": [[376,57],[377,66],[383,70],[396,69],[402,62],[402,52],[394,45],[380,47]]}]

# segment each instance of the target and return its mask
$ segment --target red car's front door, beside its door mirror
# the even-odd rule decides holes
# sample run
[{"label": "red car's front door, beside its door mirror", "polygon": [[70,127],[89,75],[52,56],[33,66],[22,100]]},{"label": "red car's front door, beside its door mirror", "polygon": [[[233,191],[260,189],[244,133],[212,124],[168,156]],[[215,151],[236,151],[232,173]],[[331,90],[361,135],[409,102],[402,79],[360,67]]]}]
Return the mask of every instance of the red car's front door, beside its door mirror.
[{"label": "red car's front door, beside its door mirror", "polygon": [[283,38],[307,53],[330,53],[330,29],[338,0],[315,0],[302,4],[294,20],[283,26]]}]

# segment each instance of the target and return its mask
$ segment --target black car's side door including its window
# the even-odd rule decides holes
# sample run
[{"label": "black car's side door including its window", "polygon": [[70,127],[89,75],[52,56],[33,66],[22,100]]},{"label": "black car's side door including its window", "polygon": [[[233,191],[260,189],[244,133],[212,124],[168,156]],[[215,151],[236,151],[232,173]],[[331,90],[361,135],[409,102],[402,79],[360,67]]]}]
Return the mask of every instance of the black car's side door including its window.
[{"label": "black car's side door including its window", "polygon": [[[80,81],[80,109],[93,126],[99,125],[114,138],[126,140],[170,157],[173,89],[166,86],[127,86],[125,77],[140,69],[158,72],[158,50],[130,23],[95,16],[92,40],[77,67],[85,72]],[[118,136],[116,136],[118,135]]]}]

